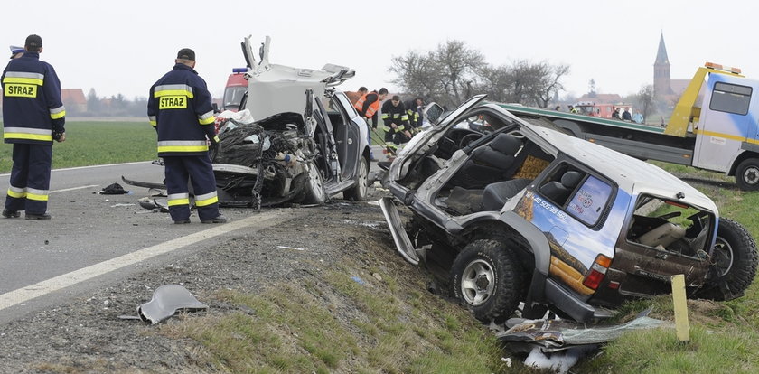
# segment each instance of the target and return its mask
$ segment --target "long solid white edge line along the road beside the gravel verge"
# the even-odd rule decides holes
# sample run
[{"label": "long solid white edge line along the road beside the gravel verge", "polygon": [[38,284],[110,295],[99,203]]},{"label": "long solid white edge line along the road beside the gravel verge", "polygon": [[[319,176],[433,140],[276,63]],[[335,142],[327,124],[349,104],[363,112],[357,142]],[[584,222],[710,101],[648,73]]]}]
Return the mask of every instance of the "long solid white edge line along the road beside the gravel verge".
[{"label": "long solid white edge line along the road beside the gravel verge", "polygon": [[120,257],[111,258],[107,261],[83,267],[79,270],[75,270],[61,276],[55,276],[34,285],[27,285],[0,295],[0,311],[16,304],[27,302],[35,297],[47,295],[70,285],[76,285],[78,283],[87,281],[96,276],[108,274],[122,267],[134,265],[140,261],[145,261],[156,256],[164,255],[165,253],[169,253],[173,250],[190,246],[192,244],[200,242],[201,240],[219,237],[220,235],[224,235],[230,231],[243,229],[250,225],[257,223],[260,224],[262,222],[266,223],[258,226],[258,229],[265,229],[278,223],[280,221],[279,219],[292,219],[294,215],[297,216],[300,214],[304,213],[291,210],[288,210],[287,214],[283,214],[282,211],[267,211],[264,213],[259,213],[255,216],[248,217],[243,220],[235,220],[229,223],[219,224],[211,229],[205,229],[182,238],[175,238],[173,240],[166,241],[153,247],[143,248]]}]

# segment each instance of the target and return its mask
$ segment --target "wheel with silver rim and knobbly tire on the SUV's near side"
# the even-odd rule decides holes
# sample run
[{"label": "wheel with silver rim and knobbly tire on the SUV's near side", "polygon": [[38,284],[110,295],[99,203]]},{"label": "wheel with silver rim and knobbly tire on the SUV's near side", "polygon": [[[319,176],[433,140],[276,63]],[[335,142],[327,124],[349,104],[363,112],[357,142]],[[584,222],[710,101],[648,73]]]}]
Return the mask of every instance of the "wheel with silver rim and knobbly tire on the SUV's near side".
[{"label": "wheel with silver rim and knobbly tire on the SUV's near side", "polygon": [[451,294],[483,323],[505,322],[520,302],[521,268],[511,250],[497,240],[475,240],[451,266]]}]

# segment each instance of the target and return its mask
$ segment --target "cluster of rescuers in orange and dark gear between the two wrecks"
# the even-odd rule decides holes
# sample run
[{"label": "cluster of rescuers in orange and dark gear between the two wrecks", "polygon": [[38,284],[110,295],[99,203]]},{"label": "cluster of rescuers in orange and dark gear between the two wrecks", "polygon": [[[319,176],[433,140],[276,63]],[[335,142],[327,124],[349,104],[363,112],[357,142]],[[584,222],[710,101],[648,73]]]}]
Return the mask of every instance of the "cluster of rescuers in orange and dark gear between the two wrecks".
[{"label": "cluster of rescuers in orange and dark gear between the two wrecks", "polygon": [[[389,100],[385,100],[388,97],[388,89],[385,88],[370,92],[366,87],[361,87],[357,93],[358,98],[355,100],[353,107],[356,108],[359,115],[366,120],[367,126],[370,127],[369,138],[367,139],[370,144],[371,134],[376,134],[376,129],[379,126],[378,117],[380,112],[382,119],[382,126],[380,128],[385,132],[382,140],[389,154],[396,154],[398,152],[398,145],[407,143],[421,128],[422,110],[425,105],[423,98],[412,98],[404,103],[401,101],[400,96],[393,95]],[[383,100],[385,101],[382,102]],[[372,154],[373,160],[374,156]]]}]

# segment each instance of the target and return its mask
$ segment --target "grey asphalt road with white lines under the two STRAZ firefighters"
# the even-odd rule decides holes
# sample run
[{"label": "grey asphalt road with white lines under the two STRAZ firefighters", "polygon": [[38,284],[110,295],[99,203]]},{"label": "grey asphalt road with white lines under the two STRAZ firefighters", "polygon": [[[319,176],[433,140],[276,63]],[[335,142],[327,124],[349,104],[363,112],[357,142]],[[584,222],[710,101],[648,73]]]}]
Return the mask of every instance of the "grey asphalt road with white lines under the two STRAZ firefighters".
[{"label": "grey asphalt road with white lines under the two STRAZ firefighters", "polygon": [[[271,225],[287,210],[224,210],[225,225],[174,225],[168,214],[145,210],[147,189],[124,175],[160,182],[164,168],[150,162],[54,170],[48,211],[52,220],[0,218],[0,323],[49,307],[109,279],[155,266],[160,260],[206,248],[251,226]],[[6,189],[8,174],[0,175]],[[130,193],[99,194],[118,182]],[[5,193],[2,194],[5,196]]]}]

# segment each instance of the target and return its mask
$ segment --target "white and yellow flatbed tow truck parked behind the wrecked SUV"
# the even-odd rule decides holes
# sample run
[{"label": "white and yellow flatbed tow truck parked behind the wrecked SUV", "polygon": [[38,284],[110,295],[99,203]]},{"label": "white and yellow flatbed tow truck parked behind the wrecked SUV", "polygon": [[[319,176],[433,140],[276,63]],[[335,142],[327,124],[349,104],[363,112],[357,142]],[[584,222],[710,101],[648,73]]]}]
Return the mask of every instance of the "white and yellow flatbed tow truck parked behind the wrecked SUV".
[{"label": "white and yellow flatbed tow truck parked behind the wrecked SUV", "polygon": [[663,128],[514,104],[501,107],[518,117],[548,119],[573,136],[642,160],[735,176],[741,190],[757,191],[756,89],[759,80],[745,78],[740,69],[707,62],[696,70]]}]

